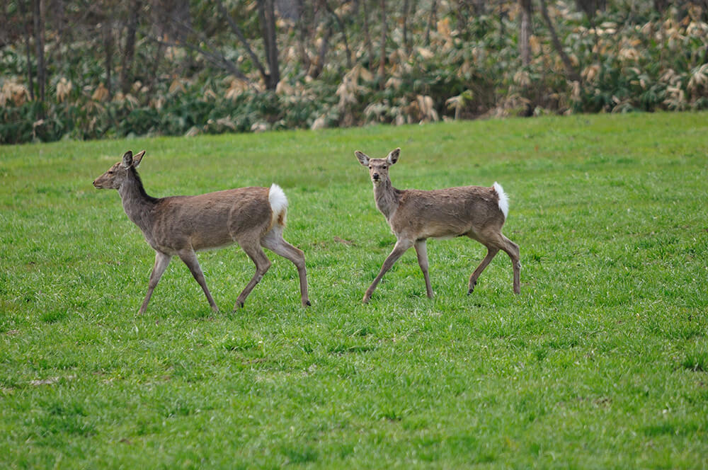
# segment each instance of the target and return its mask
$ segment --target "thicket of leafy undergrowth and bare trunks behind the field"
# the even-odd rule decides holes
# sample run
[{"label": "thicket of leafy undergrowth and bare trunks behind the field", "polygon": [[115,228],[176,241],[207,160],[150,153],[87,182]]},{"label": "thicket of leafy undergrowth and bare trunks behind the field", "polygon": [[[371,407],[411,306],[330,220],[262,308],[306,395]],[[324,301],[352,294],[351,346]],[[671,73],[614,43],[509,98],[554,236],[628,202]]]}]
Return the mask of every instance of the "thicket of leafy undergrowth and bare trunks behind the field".
[{"label": "thicket of leafy undergrowth and bare trunks behind the field", "polygon": [[0,143],[708,108],[708,2],[16,0]]}]

